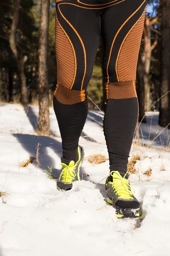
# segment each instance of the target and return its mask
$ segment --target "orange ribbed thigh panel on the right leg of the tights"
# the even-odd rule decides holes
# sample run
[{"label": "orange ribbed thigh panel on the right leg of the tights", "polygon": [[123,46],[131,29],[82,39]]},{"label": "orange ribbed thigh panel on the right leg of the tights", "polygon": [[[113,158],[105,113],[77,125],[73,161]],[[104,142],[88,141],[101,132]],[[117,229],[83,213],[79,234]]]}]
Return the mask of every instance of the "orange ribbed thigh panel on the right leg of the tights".
[{"label": "orange ribbed thigh panel on the right leg of the tights", "polygon": [[119,81],[133,81],[136,79],[136,67],[143,33],[145,12],[146,8],[138,23],[136,23],[127,36],[120,51],[117,64]]}]

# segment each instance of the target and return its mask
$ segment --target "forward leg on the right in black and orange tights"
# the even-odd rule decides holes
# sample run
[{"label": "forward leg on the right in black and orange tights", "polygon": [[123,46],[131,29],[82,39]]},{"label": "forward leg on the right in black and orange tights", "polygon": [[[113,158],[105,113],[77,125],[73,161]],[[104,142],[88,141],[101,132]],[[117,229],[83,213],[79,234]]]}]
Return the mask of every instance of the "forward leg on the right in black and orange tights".
[{"label": "forward leg on the right in black and orange tights", "polygon": [[135,80],[147,2],[125,0],[102,17],[107,107],[104,132],[110,170],[124,176],[138,119]]}]

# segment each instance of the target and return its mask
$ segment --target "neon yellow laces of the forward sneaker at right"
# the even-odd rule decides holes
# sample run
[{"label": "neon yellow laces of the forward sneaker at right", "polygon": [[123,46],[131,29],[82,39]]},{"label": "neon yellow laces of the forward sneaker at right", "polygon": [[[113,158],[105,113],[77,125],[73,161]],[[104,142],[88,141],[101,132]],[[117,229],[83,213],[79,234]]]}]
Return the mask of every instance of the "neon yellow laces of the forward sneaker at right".
[{"label": "neon yellow laces of the forward sneaker at right", "polygon": [[113,177],[113,182],[109,181],[108,183],[112,184],[114,192],[116,192],[116,195],[119,195],[118,198],[133,199],[132,195],[135,193],[135,190],[129,185],[129,180],[125,179],[125,176],[122,177],[118,171],[112,171],[111,176]]}]

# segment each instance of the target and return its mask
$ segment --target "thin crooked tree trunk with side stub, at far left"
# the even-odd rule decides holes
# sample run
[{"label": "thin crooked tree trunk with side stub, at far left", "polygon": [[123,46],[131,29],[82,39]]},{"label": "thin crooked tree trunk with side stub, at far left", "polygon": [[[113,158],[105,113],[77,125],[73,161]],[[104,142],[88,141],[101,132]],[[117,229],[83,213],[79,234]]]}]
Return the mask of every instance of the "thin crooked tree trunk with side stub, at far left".
[{"label": "thin crooked tree trunk with side stub, at far left", "polygon": [[26,107],[28,104],[28,97],[27,97],[27,87],[26,87],[26,76],[24,73],[24,63],[26,62],[27,57],[24,56],[24,58],[22,59],[19,56],[19,52],[18,52],[16,44],[15,44],[15,41],[16,41],[15,37],[16,37],[18,17],[19,17],[19,9],[20,9],[20,0],[14,0],[14,16],[12,19],[9,44],[11,47],[11,51],[13,52],[15,59],[17,61],[18,75],[19,75],[20,86],[21,86],[21,102]]}]

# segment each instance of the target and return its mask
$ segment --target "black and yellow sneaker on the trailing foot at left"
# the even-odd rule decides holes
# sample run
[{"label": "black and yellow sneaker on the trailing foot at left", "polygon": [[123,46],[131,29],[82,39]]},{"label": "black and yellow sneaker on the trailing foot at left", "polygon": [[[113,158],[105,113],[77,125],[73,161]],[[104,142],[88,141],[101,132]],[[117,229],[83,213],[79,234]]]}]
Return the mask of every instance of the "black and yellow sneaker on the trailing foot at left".
[{"label": "black and yellow sneaker on the trailing foot at left", "polygon": [[79,169],[84,158],[84,150],[80,146],[78,147],[78,156],[79,159],[77,163],[74,163],[73,160],[70,161],[69,165],[61,163],[62,170],[59,176],[59,180],[57,181],[57,187],[59,190],[70,190],[72,189],[73,182],[80,180]]}]

